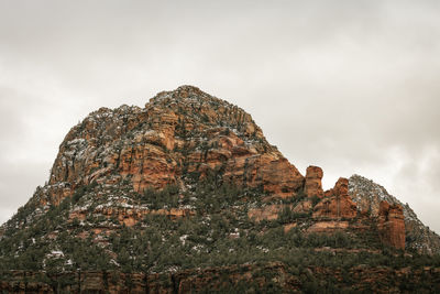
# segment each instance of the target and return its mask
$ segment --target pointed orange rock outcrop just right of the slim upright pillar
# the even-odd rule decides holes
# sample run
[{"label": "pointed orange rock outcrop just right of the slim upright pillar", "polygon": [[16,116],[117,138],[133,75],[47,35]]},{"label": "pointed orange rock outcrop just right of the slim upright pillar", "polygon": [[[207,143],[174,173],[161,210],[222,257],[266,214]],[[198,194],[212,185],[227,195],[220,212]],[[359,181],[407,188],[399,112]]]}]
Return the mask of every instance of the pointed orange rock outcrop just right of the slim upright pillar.
[{"label": "pointed orange rock outcrop just right of the slim upright pillar", "polygon": [[315,207],[314,218],[355,218],[356,205],[348,194],[349,179],[339,178],[334,187],[324,193],[324,198]]}]

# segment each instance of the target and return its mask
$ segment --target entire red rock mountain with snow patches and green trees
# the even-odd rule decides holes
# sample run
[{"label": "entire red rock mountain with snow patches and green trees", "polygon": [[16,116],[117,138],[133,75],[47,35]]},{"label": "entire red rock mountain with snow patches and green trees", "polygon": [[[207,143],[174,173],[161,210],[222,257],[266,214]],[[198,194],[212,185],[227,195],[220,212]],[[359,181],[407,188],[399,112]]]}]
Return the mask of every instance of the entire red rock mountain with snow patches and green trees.
[{"label": "entire red rock mountain with snow patches and green trees", "polygon": [[323,175],[193,86],[100,108],[0,227],[0,291],[440,292],[439,236],[372,181]]}]

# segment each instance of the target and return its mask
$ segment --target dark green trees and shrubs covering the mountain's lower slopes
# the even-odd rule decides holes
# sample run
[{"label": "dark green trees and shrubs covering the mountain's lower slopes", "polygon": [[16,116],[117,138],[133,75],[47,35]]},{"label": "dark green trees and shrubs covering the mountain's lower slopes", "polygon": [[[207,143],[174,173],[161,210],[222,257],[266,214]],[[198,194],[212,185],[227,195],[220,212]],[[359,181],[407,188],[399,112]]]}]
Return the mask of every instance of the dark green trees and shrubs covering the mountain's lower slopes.
[{"label": "dark green trees and shrubs covering the mountain's lower slopes", "polygon": [[[191,179],[194,185],[188,190],[169,185],[162,190],[150,188],[139,194],[113,187],[110,190],[112,195],[128,193],[125,197],[131,199],[129,204],[150,209],[190,207],[196,211],[195,216],[177,219],[148,214],[132,227],[121,225],[118,218],[92,213],[106,200],[96,195],[96,190],[102,189],[101,186],[91,184],[79,188],[72,198],[65,198],[58,206],[51,206],[24,229],[10,229],[4,233],[0,240],[0,276],[7,276],[9,270],[44,270],[47,275],[91,270],[167,273],[173,269],[243,264],[258,268],[278,262],[287,273],[298,277],[306,293],[339,293],[342,291],[338,287],[341,282],[310,274],[308,269],[332,269],[340,272],[344,283],[350,284],[352,275],[349,272],[360,264],[391,269],[410,266],[413,270],[440,266],[440,257],[408,255],[383,248],[374,231],[306,233],[310,215],[297,214],[290,208],[304,199],[301,194],[290,200],[279,202],[285,208],[279,211],[277,219],[255,222],[249,219],[248,211],[251,207],[267,205],[264,203],[266,195],[261,188],[250,189],[223,182],[218,174],[219,171],[212,171],[202,179],[195,176]],[[81,205],[88,207],[87,217],[82,220],[69,219],[72,209]],[[24,224],[31,213],[29,207],[22,208],[14,221]],[[285,231],[284,225],[293,222],[298,226]],[[94,228],[100,227],[111,233],[94,231]],[[258,287],[257,283],[230,281],[228,275],[219,276],[221,286],[216,291],[228,293],[242,288],[254,293],[258,293],[258,290],[278,293],[279,284],[273,282],[273,274],[264,271],[252,273],[255,281],[264,281],[263,287]],[[68,277],[50,281],[72,283]],[[324,284],[322,281],[326,281]],[[408,285],[404,287],[405,291],[411,291]]]}]

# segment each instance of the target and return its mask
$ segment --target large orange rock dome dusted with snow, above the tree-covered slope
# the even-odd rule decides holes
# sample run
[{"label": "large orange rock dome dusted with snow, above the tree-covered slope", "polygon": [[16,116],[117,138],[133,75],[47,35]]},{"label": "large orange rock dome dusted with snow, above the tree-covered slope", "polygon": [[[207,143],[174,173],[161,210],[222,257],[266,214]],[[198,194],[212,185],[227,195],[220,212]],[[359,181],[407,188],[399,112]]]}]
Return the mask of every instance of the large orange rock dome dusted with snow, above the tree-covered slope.
[{"label": "large orange rock dome dusted with snow, above the tree-covered slope", "polygon": [[[252,117],[196,87],[152,98],[145,108],[122,106],[90,113],[66,135],[52,167],[50,200],[112,174],[133,188],[183,185],[186,173],[221,171],[227,181],[292,196],[304,177],[267,143]],[[118,176],[119,175],[119,176]]]}]

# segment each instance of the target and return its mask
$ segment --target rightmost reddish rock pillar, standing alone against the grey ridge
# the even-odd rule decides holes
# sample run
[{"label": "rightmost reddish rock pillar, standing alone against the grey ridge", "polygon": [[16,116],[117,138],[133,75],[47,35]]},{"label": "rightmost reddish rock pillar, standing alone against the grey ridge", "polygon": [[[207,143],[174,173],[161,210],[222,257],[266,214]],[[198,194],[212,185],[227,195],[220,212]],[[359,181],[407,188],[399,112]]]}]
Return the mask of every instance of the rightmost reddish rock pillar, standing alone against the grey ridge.
[{"label": "rightmost reddish rock pillar, standing alone against the grey ridge", "polygon": [[385,244],[405,249],[405,221],[404,210],[400,205],[389,205],[385,200],[381,202],[377,229]]}]

